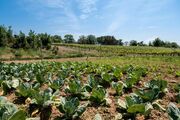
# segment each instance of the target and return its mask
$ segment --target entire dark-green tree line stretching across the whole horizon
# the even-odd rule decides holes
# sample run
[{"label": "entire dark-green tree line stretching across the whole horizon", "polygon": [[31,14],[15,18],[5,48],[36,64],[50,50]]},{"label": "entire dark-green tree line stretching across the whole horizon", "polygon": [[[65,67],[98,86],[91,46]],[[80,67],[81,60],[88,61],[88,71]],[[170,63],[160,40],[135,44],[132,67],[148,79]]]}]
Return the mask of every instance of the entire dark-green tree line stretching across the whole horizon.
[{"label": "entire dark-green tree line stretching across the whole horizon", "polygon": [[71,34],[66,34],[64,38],[60,35],[50,35],[47,33],[35,33],[30,30],[28,35],[25,35],[22,31],[19,34],[14,34],[12,27],[5,27],[0,25],[0,47],[11,48],[24,48],[24,49],[50,49],[51,43],[78,43],[78,44],[100,44],[100,45],[120,45],[120,46],[154,46],[154,47],[169,47],[178,48],[176,42],[165,42],[160,38],[156,38],[149,44],[145,44],[143,41],[131,40],[130,42],[123,42],[122,39],[116,39],[114,36],[100,36],[95,35],[82,35],[76,41]]}]

